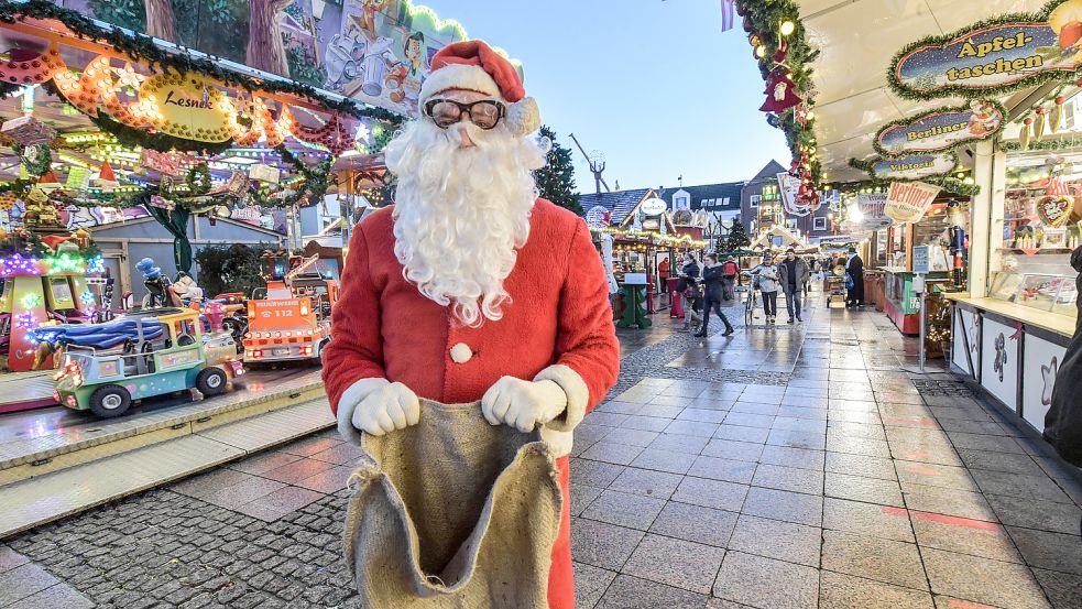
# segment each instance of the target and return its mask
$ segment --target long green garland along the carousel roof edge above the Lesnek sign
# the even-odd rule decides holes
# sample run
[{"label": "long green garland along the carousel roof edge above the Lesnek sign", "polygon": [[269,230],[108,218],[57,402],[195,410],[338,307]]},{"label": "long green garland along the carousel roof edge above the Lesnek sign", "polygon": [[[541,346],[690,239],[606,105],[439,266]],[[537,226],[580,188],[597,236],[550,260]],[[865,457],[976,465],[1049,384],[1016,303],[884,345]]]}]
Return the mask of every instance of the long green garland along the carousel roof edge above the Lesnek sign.
[{"label": "long green garland along the carousel roof edge above the Lesnek sign", "polygon": [[227,86],[248,91],[265,91],[303,97],[319,104],[328,110],[354,117],[370,117],[390,122],[402,120],[394,112],[384,110],[383,108],[364,107],[350,98],[343,98],[341,100],[330,99],[314,87],[294,80],[264,80],[238,74],[219,65],[215,61],[215,57],[201,58],[192,57],[186,54],[174,55],[157,46],[151,36],[120,28],[101,26],[92,19],[75,10],[57,7],[50,0],[28,0],[25,2],[0,0],[0,22],[18,23],[26,18],[54,19],[75,32],[80,39],[102,42],[135,61],[146,63],[151,66],[159,66],[162,69],[173,69],[181,74],[196,72]]}]

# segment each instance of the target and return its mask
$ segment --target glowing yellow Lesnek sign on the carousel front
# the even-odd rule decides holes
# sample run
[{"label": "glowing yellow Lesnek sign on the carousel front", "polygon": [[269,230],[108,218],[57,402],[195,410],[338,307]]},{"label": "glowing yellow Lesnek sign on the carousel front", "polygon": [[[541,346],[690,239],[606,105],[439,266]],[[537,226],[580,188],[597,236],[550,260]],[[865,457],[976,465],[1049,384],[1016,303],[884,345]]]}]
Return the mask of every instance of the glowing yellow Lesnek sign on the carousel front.
[{"label": "glowing yellow Lesnek sign on the carousel front", "polygon": [[143,81],[140,102],[153,111],[155,129],[197,142],[225,142],[230,138],[226,96],[199,75],[160,74]]}]

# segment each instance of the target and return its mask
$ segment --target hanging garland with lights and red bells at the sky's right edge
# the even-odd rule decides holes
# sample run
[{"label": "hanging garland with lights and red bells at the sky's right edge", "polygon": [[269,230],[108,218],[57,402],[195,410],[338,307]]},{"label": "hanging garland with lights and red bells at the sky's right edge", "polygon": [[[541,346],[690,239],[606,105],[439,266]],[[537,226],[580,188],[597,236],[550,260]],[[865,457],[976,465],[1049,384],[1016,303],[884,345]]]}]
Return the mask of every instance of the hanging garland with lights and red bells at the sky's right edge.
[{"label": "hanging garland with lights and red bells at the sky's right edge", "polygon": [[[796,29],[785,39],[788,53],[785,58],[789,67],[789,78],[797,85],[797,93],[805,98],[804,104],[810,110],[815,99],[809,94],[812,90],[811,64],[819,56],[819,51],[812,48],[807,41],[804,23],[800,22],[800,8],[794,0],[737,0],[737,12],[744,15],[745,29],[757,35],[766,46],[766,56],[758,59],[759,73],[765,81],[775,67],[773,55],[778,50],[778,26],[785,21],[791,21]],[[768,115],[767,122],[785,133],[786,143],[794,159],[800,159],[802,151],[816,150],[815,119],[800,124],[796,119],[796,109],[789,109],[778,115]],[[818,160],[812,160],[811,175],[820,181],[822,166]]]}]

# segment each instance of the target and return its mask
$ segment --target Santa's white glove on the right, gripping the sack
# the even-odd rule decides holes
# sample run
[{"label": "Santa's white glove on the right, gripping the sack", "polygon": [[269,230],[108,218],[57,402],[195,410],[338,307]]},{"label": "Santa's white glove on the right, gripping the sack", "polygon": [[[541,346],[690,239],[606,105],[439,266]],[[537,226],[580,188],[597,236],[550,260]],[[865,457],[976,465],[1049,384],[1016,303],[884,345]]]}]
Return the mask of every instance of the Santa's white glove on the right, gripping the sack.
[{"label": "Santa's white glove on the right, gripping the sack", "polygon": [[503,377],[481,398],[481,413],[492,425],[503,423],[532,432],[567,410],[567,393],[555,381],[524,381]]}]

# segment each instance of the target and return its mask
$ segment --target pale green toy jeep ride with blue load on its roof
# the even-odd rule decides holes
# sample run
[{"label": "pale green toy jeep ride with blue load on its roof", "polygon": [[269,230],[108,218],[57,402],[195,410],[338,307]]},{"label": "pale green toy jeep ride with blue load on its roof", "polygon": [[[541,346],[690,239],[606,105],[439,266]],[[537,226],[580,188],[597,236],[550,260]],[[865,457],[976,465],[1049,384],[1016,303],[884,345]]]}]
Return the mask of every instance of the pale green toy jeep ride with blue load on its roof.
[{"label": "pale green toy jeep ride with blue load on its roof", "polygon": [[99,344],[116,344],[119,338],[122,346],[105,350],[78,342],[67,346],[53,377],[53,396],[72,409],[120,416],[133,400],[143,398],[190,388],[205,398],[225,393],[229,380],[244,373],[229,333],[204,334],[196,311],[150,311],[95,326],[102,337]]}]

